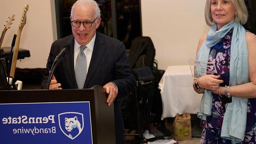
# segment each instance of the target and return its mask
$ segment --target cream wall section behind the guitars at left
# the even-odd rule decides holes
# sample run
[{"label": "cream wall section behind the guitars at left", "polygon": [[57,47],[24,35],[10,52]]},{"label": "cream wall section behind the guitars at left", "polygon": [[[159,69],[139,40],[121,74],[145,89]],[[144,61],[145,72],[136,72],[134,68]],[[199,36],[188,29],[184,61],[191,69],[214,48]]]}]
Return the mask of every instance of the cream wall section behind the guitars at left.
[{"label": "cream wall section behind the guitars at left", "polygon": [[[15,20],[4,37],[2,47],[11,47],[13,34],[17,34],[22,8],[29,5],[27,23],[21,32],[20,48],[30,51],[31,57],[17,61],[19,68],[45,68],[51,44],[56,39],[54,0],[0,0],[0,30],[4,22],[15,14]],[[52,4],[52,5],[51,5]],[[53,13],[52,13],[53,11]],[[54,16],[54,17],[52,17]],[[53,32],[53,30],[55,32]]]}]

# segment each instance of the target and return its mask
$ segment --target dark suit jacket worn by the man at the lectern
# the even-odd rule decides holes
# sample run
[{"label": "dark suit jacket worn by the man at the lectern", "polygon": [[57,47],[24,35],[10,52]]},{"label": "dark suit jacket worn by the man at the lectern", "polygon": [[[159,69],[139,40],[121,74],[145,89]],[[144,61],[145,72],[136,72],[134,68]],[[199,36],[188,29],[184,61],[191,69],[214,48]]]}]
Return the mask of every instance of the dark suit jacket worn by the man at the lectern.
[{"label": "dark suit jacket worn by the man at the lectern", "polygon": [[[61,83],[62,89],[78,88],[74,69],[74,42],[73,35],[53,42],[47,60],[46,72],[41,83],[42,89],[46,89],[53,60],[63,46],[66,45],[65,43],[70,45],[70,49],[66,52],[66,58],[56,67],[54,75],[58,83]],[[108,82],[114,82],[117,85],[117,99],[126,95],[135,86],[135,78],[131,72],[123,43],[117,39],[97,32],[84,88],[91,88],[96,84],[104,86]],[[114,108],[116,142],[124,143],[123,120],[117,101],[114,102]]]}]

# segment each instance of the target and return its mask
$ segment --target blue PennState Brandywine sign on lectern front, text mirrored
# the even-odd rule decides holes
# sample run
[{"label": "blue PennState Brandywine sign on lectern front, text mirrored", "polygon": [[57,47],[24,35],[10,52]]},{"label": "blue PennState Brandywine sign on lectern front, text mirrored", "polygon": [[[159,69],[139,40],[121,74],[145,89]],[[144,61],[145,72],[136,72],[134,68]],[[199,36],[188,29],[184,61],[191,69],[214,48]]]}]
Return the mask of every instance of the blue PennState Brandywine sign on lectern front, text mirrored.
[{"label": "blue PennState Brandywine sign on lectern front, text mirrored", "polygon": [[92,144],[89,102],[0,104],[0,143]]}]

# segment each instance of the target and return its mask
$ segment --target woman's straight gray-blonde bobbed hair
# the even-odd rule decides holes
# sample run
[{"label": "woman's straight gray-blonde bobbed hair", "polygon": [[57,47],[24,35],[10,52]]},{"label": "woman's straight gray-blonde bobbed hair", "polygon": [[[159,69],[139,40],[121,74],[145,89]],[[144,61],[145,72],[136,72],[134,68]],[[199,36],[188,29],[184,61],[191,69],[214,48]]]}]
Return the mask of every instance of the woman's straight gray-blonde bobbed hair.
[{"label": "woman's straight gray-blonde bobbed hair", "polygon": [[[235,8],[235,21],[244,25],[247,22],[248,11],[245,5],[244,0],[231,0]],[[211,0],[206,0],[205,9],[204,9],[204,17],[206,24],[208,26],[214,25],[215,22],[212,19],[211,15]]]}]

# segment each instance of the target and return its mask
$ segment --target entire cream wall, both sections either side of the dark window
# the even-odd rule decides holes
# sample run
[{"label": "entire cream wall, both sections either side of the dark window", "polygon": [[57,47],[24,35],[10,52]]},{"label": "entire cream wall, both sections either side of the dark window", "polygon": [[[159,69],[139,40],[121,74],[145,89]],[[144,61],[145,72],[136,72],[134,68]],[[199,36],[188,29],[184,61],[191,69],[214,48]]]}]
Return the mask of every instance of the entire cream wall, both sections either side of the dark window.
[{"label": "entire cream wall, both sections either side of the dark window", "polygon": [[[54,0],[0,0],[1,31],[8,16],[16,15],[2,46],[11,45],[25,4],[29,4],[29,10],[20,48],[30,50],[31,57],[18,60],[17,67],[45,68],[51,44],[56,40]],[[205,0],[141,0],[142,33],[154,43],[159,69],[187,65],[187,59],[195,57],[198,40],[208,30],[204,5]]]}]

